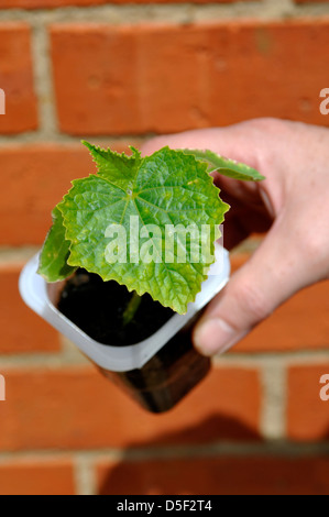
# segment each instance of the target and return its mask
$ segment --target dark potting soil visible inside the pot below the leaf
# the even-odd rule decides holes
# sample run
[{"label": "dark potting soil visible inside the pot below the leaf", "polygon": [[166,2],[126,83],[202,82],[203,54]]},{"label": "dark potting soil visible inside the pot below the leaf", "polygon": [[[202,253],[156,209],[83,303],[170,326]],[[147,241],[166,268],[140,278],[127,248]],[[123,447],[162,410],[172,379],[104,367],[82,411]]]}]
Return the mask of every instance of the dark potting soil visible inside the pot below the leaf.
[{"label": "dark potting soil visible inside the pot below the leaf", "polygon": [[133,319],[123,326],[131,297],[132,293],[117,282],[103,282],[78,270],[61,294],[58,310],[99,343],[125,346],[150,338],[174,316],[172,309],[145,294]]}]

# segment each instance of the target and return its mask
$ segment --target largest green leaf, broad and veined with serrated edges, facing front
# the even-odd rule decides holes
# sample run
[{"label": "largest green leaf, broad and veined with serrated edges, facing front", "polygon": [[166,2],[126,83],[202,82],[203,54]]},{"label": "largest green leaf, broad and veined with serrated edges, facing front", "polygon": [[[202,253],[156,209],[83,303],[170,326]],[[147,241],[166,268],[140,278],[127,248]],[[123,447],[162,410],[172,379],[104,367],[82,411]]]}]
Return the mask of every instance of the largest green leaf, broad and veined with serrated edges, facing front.
[{"label": "largest green leaf, broad and veined with serrated edges, facing front", "polygon": [[[213,241],[229,209],[219,198],[207,164],[168,147],[142,158],[135,150],[128,157],[87,146],[99,174],[75,180],[58,205],[65,239],[70,241],[68,264],[97,273],[103,280],[114,279],[139,295],[149,293],[162,305],[186,312],[215,261]],[[127,248],[112,232],[113,224],[125,232]],[[186,238],[190,224],[199,232],[194,240]],[[202,249],[202,224],[212,231],[211,256]],[[133,226],[142,231],[139,244]],[[176,230],[177,243],[166,260],[171,229]],[[198,262],[191,257],[196,250]],[[184,252],[186,262],[180,263]],[[116,253],[118,262],[112,260]]]}]

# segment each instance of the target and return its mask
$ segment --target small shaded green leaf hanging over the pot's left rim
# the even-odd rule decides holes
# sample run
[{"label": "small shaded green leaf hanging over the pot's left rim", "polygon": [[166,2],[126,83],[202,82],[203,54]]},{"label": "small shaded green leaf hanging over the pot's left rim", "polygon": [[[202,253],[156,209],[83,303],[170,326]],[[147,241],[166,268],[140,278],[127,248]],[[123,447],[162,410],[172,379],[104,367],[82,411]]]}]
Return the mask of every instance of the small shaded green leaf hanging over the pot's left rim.
[{"label": "small shaded green leaf hanging over the pot's left rim", "polygon": [[62,212],[58,208],[53,211],[53,227],[47,234],[40,256],[37,273],[47,282],[64,280],[70,276],[76,267],[68,265],[70,242],[65,240]]}]

